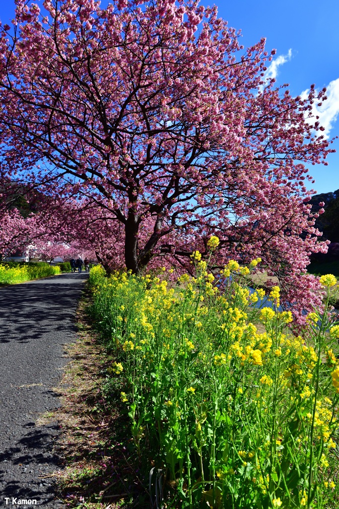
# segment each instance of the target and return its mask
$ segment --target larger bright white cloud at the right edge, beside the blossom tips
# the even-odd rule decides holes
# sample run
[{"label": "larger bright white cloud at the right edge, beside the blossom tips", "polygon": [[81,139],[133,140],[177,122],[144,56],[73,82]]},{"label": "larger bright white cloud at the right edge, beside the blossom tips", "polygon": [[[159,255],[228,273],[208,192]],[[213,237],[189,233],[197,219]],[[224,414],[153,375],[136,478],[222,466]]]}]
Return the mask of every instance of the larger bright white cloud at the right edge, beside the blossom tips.
[{"label": "larger bright white cloud at the right edge, beside the blossom tips", "polygon": [[[307,99],[309,90],[304,90],[301,93],[302,99]],[[325,131],[317,131],[323,134],[326,138],[329,137],[329,132],[333,128],[339,114],[339,78],[330,81],[326,87],[327,100],[323,101],[321,106],[313,105],[312,112],[314,117],[319,117],[319,123],[324,127]],[[316,121],[316,119],[314,119]]]}]

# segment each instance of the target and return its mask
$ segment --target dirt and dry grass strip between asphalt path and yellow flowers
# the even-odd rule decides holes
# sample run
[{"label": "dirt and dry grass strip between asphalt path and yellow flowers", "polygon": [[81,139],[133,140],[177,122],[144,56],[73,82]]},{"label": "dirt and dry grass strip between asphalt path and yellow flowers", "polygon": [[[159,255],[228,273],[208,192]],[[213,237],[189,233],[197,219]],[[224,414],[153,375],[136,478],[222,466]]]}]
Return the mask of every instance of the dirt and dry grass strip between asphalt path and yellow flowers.
[{"label": "dirt and dry grass strip between asphalt path and yellow flowers", "polygon": [[[116,387],[107,388],[112,357],[100,344],[87,313],[85,290],[76,312],[76,343],[65,345],[70,358],[60,384],[60,407],[42,414],[39,426],[58,422],[54,454],[59,470],[50,474],[56,497],[65,507],[115,509],[149,507],[138,478],[126,406]],[[109,390],[111,389],[111,390]]]}]

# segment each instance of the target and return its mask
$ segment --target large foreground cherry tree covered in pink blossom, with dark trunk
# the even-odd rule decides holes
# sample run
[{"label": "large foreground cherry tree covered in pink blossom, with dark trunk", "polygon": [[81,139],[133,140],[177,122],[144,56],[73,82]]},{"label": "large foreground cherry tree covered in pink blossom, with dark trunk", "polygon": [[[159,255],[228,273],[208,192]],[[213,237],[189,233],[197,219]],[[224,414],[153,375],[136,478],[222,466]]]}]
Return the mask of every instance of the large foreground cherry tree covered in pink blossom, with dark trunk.
[{"label": "large foreground cherry tree covered in pink blossom, with dark trunk", "polygon": [[106,209],[133,272],[189,260],[213,233],[220,263],[260,253],[299,276],[326,249],[305,187],[330,151],[312,119],[325,90],[276,88],[274,51],[238,36],[196,1],[16,0],[0,36],[3,175]]}]

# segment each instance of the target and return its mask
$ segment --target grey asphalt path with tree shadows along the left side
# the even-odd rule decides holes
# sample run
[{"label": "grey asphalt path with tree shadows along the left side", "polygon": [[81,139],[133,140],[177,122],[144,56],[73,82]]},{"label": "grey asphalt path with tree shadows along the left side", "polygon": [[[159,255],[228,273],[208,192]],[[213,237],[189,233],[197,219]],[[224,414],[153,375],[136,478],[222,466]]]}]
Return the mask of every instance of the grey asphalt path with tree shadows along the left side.
[{"label": "grey asphalt path with tree shadows along the left side", "polygon": [[0,289],[0,507],[12,497],[59,507],[53,479],[56,423],[36,426],[58,406],[52,390],[67,363],[63,345],[75,339],[74,314],[87,274],[61,274]]}]

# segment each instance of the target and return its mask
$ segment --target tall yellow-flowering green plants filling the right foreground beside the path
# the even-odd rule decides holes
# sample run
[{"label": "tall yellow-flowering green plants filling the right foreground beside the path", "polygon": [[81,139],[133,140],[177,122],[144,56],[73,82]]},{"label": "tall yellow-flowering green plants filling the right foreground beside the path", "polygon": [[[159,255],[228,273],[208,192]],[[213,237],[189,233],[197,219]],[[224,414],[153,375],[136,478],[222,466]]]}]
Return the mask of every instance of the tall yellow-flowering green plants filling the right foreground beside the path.
[{"label": "tall yellow-flowering green plants filling the right foreground beside the path", "polygon": [[264,291],[244,285],[260,260],[231,260],[217,279],[198,251],[192,262],[196,277],[177,285],[165,268],[90,273],[91,316],[112,359],[105,399],[126,406],[125,441],[152,506],[334,509],[339,326],[327,309],[335,277],[321,278],[323,312],[292,333],[279,288],[268,295],[272,307],[260,307]]}]

